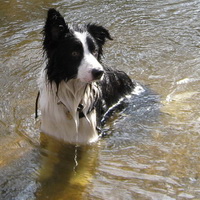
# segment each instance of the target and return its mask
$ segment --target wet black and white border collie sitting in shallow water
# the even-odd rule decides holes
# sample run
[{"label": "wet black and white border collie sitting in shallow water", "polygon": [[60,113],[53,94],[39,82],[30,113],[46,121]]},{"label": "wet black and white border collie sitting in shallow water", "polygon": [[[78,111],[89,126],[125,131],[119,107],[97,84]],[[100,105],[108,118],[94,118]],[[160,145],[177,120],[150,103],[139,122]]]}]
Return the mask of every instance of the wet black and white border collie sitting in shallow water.
[{"label": "wet black and white border collie sitting in shallow water", "polygon": [[98,139],[101,119],[135,84],[122,71],[103,67],[104,27],[68,25],[49,9],[43,30],[47,61],[39,78],[41,131],[68,143]]}]

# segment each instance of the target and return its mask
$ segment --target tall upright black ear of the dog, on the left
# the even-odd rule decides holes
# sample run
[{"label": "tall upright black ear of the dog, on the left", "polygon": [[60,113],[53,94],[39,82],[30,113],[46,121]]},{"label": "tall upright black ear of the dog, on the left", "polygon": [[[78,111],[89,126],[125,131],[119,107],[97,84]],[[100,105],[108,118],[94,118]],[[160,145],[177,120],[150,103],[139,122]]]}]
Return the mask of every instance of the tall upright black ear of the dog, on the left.
[{"label": "tall upright black ear of the dog, on the left", "polygon": [[46,23],[44,26],[44,49],[47,49],[51,43],[64,38],[69,32],[63,16],[54,8],[48,10]]}]

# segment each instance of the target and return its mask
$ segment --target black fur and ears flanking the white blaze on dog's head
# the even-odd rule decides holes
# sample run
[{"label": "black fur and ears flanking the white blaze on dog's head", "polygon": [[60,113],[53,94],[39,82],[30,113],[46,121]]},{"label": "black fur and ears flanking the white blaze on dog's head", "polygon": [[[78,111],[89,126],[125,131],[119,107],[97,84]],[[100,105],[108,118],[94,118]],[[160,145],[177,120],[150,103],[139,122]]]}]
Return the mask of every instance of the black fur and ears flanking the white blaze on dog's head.
[{"label": "black fur and ears flanking the white blaze on dog's head", "polygon": [[106,39],[112,39],[108,30],[102,26],[88,24],[69,28],[63,16],[51,8],[48,11],[43,34],[43,48],[46,51],[48,80],[56,82],[76,78],[78,67],[83,59],[82,43],[74,36],[74,31],[88,32],[89,51],[100,61],[102,46]]}]

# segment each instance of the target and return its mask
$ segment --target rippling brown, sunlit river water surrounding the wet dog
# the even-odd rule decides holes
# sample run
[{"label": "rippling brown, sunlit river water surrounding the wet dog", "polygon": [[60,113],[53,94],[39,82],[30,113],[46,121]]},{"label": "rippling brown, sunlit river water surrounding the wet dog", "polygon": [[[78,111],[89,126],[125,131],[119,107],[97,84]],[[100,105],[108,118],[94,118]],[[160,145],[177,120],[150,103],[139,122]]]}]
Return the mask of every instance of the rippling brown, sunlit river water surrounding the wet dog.
[{"label": "rippling brown, sunlit river water surrounding the wet dog", "polygon": [[[104,64],[152,91],[89,147],[40,135],[34,120],[50,7],[107,27]],[[4,0],[0,11],[0,199],[200,199],[199,0]]]}]

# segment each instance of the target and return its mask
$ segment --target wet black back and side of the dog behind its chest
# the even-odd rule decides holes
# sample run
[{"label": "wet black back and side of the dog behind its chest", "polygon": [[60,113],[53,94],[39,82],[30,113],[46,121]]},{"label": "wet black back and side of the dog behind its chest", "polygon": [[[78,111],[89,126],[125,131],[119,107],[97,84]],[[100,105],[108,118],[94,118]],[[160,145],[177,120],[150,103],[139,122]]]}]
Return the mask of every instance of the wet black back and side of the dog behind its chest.
[{"label": "wet black back and side of the dog behind its chest", "polygon": [[101,98],[96,104],[97,121],[100,126],[104,124],[102,119],[104,121],[105,115],[108,113],[112,115],[113,110],[123,104],[123,99],[126,95],[130,95],[136,86],[125,72],[112,68],[104,68],[104,70],[104,77],[98,82]]}]

